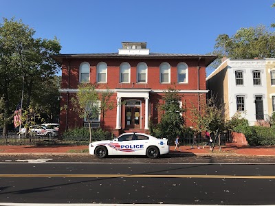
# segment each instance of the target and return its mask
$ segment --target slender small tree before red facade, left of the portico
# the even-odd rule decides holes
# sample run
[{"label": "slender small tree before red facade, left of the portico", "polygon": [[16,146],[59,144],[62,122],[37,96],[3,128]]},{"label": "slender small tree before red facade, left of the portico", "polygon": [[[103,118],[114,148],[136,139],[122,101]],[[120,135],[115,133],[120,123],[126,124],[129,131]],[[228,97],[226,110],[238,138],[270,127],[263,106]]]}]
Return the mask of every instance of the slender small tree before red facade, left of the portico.
[{"label": "slender small tree before red facade, left of the portico", "polygon": [[113,108],[110,102],[113,93],[107,89],[100,93],[96,91],[95,84],[79,84],[76,97],[71,102],[74,105],[73,111],[78,113],[78,117],[86,119],[89,124],[89,134],[91,142],[91,122],[98,119],[99,115],[106,115],[107,111]]}]

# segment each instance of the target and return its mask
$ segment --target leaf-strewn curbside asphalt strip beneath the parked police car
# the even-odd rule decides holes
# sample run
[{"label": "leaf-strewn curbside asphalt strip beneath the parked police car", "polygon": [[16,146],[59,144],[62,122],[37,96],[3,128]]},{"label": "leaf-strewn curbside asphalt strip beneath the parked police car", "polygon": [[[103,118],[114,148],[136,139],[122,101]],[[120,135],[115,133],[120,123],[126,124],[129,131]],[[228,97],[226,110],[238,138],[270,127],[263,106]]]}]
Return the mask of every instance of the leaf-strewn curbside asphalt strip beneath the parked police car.
[{"label": "leaf-strewn curbside asphalt strip beneath the parked police car", "polygon": [[17,162],[18,159],[53,159],[58,162],[77,163],[275,163],[275,156],[243,156],[243,155],[185,155],[168,154],[159,159],[149,159],[145,156],[111,156],[105,159],[97,159],[89,154],[66,155],[0,155],[1,162]]}]

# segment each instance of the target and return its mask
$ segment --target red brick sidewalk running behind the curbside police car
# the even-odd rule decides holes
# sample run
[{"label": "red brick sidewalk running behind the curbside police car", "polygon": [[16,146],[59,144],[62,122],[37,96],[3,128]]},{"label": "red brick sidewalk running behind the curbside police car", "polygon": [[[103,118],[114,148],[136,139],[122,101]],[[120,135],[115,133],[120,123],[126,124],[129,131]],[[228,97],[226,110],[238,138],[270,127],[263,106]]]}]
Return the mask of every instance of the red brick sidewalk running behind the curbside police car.
[{"label": "red brick sidewalk running behind the curbside police car", "polygon": [[[195,155],[249,155],[249,156],[275,156],[275,146],[242,146],[234,143],[227,143],[225,146],[221,146],[221,152],[219,147],[215,146],[214,151],[209,150],[209,147],[198,149],[190,148],[190,146],[181,146],[180,151],[174,151],[175,146],[170,146],[170,153],[182,153],[184,152]],[[15,155],[15,154],[79,154],[88,155],[88,146],[0,146],[0,155]]]}]

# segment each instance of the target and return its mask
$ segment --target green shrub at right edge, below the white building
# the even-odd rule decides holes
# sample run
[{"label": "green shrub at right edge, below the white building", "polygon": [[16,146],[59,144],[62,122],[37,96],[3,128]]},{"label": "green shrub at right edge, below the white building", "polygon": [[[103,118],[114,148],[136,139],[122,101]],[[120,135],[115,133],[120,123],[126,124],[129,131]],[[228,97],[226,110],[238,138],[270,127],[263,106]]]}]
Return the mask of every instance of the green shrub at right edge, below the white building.
[{"label": "green shrub at right edge, below the white building", "polygon": [[275,145],[275,128],[249,126],[245,129],[244,135],[250,146]]}]

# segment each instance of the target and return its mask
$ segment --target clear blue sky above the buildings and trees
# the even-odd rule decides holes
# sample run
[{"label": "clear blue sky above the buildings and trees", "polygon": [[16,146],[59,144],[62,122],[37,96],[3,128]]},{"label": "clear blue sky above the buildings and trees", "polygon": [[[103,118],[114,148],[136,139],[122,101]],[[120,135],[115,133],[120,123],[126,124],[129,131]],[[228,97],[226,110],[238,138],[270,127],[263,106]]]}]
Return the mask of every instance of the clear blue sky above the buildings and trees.
[{"label": "clear blue sky above the buildings and trees", "polygon": [[0,0],[0,22],[14,16],[37,38],[56,36],[61,54],[118,52],[122,41],[146,41],[151,52],[206,54],[219,34],[275,23],[274,2]]}]

